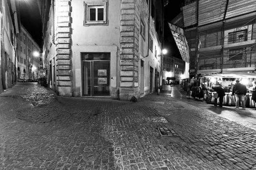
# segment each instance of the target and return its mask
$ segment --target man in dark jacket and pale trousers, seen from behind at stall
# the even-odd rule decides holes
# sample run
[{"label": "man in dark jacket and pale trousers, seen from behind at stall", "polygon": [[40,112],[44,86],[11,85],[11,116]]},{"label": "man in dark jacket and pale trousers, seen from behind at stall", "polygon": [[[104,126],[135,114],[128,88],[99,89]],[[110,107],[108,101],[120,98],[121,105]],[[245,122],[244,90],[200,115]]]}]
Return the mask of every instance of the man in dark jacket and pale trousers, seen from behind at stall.
[{"label": "man in dark jacket and pale trousers, seen from behind at stall", "polygon": [[247,88],[245,85],[240,84],[239,80],[236,80],[236,85],[232,88],[232,95],[235,94],[236,97],[236,109],[239,108],[240,101],[242,102],[242,108],[245,110],[245,98],[244,96],[247,93]]}]

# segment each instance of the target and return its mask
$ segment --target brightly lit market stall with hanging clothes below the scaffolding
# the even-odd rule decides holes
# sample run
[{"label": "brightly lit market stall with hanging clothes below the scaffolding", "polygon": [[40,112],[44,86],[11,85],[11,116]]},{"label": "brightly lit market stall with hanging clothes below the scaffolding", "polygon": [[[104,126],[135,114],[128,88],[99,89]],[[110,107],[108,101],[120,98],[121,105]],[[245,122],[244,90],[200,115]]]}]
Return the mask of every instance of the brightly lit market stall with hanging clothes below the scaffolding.
[{"label": "brightly lit market stall with hanging clothes below the scaffolding", "polygon": [[[224,88],[225,96],[223,105],[235,106],[235,96],[232,95],[232,87],[236,84],[236,80],[247,87],[245,96],[246,107],[255,107],[255,102],[252,100],[252,82],[256,81],[255,73],[229,73],[229,74],[209,74],[202,77],[193,78],[188,86],[188,98],[214,103],[214,93],[211,91],[212,85],[221,85]],[[218,99],[219,103],[219,99]]]}]

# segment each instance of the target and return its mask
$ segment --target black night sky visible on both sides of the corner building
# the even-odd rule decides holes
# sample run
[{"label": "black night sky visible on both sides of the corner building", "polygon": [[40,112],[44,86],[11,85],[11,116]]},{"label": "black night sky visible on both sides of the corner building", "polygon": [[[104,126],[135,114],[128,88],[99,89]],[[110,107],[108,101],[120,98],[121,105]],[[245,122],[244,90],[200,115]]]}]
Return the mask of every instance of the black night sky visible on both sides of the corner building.
[{"label": "black night sky visible on both sides of the corner building", "polygon": [[[20,0],[20,21],[26,30],[32,35],[39,47],[42,46],[42,23],[39,14],[39,7],[37,0]],[[176,43],[170,32],[168,21],[170,22],[174,17],[180,13],[182,0],[169,0],[167,6],[165,6],[165,47],[168,50],[166,55],[175,56],[181,58]]]}]

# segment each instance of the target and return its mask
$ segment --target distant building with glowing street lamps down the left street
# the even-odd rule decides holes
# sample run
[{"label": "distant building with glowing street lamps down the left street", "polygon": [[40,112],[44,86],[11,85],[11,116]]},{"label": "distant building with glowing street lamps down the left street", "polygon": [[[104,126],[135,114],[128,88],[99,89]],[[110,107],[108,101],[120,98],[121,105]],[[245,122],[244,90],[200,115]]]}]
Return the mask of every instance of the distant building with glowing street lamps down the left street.
[{"label": "distant building with glowing street lamps down the left street", "polygon": [[17,34],[17,78],[36,80],[39,78],[40,48],[22,25],[20,28]]}]

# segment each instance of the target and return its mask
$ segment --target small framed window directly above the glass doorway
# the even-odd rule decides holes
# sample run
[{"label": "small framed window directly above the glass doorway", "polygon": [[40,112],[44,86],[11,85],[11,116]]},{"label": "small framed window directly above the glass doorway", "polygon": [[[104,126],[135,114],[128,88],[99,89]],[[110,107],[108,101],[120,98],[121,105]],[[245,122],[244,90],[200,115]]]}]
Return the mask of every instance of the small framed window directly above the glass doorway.
[{"label": "small framed window directly above the glass doorway", "polygon": [[85,2],[84,25],[107,25],[107,2]]}]

